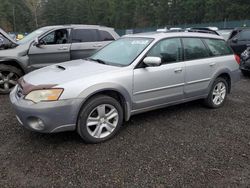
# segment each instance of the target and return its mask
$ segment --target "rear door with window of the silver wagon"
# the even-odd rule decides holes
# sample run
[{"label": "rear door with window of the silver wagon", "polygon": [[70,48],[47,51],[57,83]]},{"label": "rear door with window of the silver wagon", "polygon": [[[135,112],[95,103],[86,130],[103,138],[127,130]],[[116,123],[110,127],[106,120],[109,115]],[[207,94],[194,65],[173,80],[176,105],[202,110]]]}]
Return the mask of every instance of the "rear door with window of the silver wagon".
[{"label": "rear door with window of the silver wagon", "polygon": [[182,38],[185,54],[185,98],[206,93],[216,62],[211,61],[211,53],[200,38]]}]

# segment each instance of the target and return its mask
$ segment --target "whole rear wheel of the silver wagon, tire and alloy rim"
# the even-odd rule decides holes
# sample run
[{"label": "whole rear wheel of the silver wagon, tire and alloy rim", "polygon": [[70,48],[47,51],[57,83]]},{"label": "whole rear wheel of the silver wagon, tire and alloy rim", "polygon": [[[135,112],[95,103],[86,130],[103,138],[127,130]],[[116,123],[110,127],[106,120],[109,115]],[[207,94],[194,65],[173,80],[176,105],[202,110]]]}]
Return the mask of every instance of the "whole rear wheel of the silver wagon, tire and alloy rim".
[{"label": "whole rear wheel of the silver wagon, tire and alloy rim", "polygon": [[205,99],[205,105],[209,108],[214,108],[214,109],[222,107],[226,101],[228,91],[229,88],[227,81],[221,77],[217,78],[213,83],[213,86],[211,88],[211,91],[209,92],[208,97]]}]

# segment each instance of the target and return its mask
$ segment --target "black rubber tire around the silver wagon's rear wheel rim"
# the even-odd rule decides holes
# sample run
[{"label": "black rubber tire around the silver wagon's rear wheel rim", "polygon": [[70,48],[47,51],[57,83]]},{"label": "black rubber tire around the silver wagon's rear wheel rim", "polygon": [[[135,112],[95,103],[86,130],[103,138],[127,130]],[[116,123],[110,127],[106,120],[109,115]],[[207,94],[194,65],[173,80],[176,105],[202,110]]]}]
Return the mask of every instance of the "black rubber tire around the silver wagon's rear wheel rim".
[{"label": "black rubber tire around the silver wagon's rear wheel rim", "polygon": [[[216,104],[214,104],[214,102],[213,102],[213,91],[214,91],[215,86],[216,86],[219,82],[223,82],[223,83],[225,84],[225,86],[226,86],[226,96],[225,96],[225,98],[224,98],[224,100],[223,100],[223,102],[222,102],[221,104],[216,105]],[[208,105],[210,108],[220,108],[220,107],[222,107],[222,106],[225,104],[225,101],[226,101],[226,99],[227,99],[228,90],[229,90],[229,88],[228,88],[228,83],[227,83],[227,81],[226,81],[224,78],[217,78],[217,79],[214,81],[214,83],[213,83],[213,86],[212,86],[212,88],[211,88],[211,90],[210,90],[210,93],[209,93],[209,95],[208,95],[208,98],[206,99],[207,105]]]}]

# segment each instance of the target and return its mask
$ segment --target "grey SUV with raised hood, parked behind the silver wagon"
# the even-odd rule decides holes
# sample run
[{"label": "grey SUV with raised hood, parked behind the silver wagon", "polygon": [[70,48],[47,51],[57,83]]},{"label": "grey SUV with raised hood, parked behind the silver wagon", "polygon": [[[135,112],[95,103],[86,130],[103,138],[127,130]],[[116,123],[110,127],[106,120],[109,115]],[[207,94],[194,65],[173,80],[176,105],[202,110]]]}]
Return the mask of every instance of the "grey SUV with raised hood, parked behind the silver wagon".
[{"label": "grey SUV with raised hood, parked behind the silver wagon", "polygon": [[12,44],[0,50],[0,94],[9,93],[27,72],[89,57],[119,37],[114,29],[95,25],[43,27],[18,42],[3,30],[0,32]]}]

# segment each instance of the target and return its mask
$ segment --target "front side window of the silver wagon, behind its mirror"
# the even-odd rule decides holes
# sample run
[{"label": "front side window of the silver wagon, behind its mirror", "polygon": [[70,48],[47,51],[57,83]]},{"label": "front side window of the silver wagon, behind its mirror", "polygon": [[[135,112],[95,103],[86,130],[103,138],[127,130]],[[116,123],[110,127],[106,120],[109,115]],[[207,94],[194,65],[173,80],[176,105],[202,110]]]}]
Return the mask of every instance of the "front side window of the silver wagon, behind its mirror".
[{"label": "front side window of the silver wagon, behind its mirror", "polygon": [[178,38],[165,39],[157,43],[147,56],[160,57],[162,63],[174,63],[182,60],[182,45]]}]

